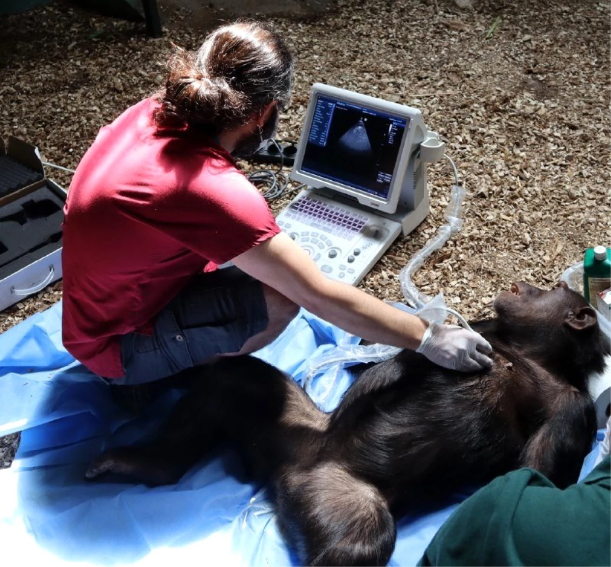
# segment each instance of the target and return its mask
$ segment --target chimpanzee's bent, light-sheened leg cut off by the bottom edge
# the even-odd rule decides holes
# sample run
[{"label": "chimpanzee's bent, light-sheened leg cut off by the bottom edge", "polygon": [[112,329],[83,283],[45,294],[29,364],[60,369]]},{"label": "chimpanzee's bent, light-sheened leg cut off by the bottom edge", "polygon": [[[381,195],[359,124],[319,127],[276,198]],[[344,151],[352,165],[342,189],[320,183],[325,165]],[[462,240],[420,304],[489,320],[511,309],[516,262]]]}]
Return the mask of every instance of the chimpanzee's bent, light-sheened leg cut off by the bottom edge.
[{"label": "chimpanzee's bent, light-sheened leg cut off by the bottom edge", "polygon": [[340,464],[285,469],[277,478],[279,520],[309,567],[384,567],[397,530],[378,489]]}]

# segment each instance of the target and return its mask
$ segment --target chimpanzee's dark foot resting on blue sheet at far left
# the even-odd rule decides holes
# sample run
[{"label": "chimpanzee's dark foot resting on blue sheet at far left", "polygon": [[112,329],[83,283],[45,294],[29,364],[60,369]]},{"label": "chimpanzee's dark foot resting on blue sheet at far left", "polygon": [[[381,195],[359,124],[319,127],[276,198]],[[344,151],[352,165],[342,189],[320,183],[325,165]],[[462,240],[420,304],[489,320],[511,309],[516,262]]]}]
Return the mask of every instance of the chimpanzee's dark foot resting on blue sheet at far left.
[{"label": "chimpanzee's dark foot resting on blue sheet at far left", "polygon": [[148,486],[171,485],[185,474],[184,467],[147,455],[133,447],[119,447],[93,459],[85,473],[89,480],[106,473],[135,478]]}]

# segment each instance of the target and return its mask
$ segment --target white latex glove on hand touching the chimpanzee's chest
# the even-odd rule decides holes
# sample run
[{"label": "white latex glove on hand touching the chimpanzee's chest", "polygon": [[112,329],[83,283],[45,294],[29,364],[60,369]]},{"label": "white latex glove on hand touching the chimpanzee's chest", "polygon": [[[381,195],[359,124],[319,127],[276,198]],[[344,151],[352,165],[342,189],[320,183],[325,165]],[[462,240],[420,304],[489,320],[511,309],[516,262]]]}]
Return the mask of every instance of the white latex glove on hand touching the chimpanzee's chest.
[{"label": "white latex glove on hand touching the chimpanzee's chest", "polygon": [[490,343],[458,325],[430,323],[416,352],[450,370],[471,372],[492,366],[492,360],[486,356],[492,353]]}]

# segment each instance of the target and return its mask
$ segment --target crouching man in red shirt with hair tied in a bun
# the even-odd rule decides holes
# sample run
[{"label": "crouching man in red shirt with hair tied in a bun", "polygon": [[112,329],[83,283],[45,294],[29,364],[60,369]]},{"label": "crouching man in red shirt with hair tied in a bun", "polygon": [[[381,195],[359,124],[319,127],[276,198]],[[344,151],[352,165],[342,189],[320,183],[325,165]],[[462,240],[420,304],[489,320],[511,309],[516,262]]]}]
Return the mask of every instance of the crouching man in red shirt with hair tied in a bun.
[{"label": "crouching man in red shirt with hair tied in a bun", "polygon": [[114,384],[155,381],[262,348],[302,306],[445,367],[491,364],[480,335],[327,279],[236,169],[288,102],[293,60],[279,35],[224,26],[169,67],[158,97],[101,129],[70,185],[63,339],[76,359]]}]

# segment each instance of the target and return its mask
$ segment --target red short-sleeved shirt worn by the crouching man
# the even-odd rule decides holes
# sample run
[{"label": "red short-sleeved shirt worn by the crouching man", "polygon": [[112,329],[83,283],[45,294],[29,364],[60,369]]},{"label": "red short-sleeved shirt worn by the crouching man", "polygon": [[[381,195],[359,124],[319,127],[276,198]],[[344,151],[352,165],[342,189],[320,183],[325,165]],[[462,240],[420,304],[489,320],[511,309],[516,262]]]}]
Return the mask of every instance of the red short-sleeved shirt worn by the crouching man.
[{"label": "red short-sleeved shirt worn by the crouching man", "polygon": [[194,275],[280,232],[228,152],[187,130],[160,130],[157,102],[98,133],[65,206],[63,340],[94,373],[123,376],[120,335],[151,328]]}]

